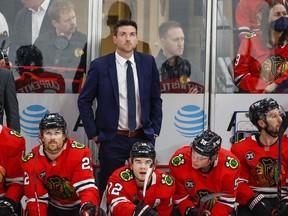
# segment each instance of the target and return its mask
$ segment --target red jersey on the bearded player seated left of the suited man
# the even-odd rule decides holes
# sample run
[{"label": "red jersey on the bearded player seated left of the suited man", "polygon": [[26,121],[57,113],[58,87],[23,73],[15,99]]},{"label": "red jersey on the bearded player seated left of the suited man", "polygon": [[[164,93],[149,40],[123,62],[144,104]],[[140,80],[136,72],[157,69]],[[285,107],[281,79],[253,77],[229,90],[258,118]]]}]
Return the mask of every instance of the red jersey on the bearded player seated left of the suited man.
[{"label": "red jersey on the bearded player seated left of the suited man", "polygon": [[90,150],[68,139],[64,150],[55,160],[49,160],[38,145],[23,158],[24,194],[30,216],[47,215],[47,204],[72,210],[92,202],[99,205],[98,188],[92,170]]}]

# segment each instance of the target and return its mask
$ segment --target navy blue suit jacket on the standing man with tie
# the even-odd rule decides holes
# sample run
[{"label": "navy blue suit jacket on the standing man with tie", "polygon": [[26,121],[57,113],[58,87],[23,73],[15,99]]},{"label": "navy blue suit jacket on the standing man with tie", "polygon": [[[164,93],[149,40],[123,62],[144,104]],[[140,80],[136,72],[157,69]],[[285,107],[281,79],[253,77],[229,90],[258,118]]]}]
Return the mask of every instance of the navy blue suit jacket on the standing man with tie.
[{"label": "navy blue suit jacket on the standing man with tie", "polygon": [[[159,72],[153,56],[134,52],[139,82],[141,123],[149,139],[159,135],[162,123]],[[96,99],[96,111],[92,105]],[[78,98],[78,108],[89,139],[113,139],[119,120],[119,88],[115,53],[91,62],[87,79]]]}]

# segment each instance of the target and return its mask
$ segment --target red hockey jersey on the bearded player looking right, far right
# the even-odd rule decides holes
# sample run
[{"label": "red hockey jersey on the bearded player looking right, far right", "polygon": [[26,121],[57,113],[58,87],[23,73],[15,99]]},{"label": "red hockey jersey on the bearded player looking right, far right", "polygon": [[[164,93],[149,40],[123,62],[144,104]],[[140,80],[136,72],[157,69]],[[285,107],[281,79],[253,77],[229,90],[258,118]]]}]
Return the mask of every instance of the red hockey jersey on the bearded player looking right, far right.
[{"label": "red hockey jersey on the bearded player looking right, far right", "polygon": [[[277,158],[278,143],[272,146],[263,146],[257,142],[258,136],[245,138],[231,147],[241,163],[240,183],[238,187],[237,202],[246,205],[255,192],[267,198],[277,197]],[[287,196],[285,181],[288,169],[288,138],[282,138],[282,195]],[[285,188],[285,189],[284,189]]]}]

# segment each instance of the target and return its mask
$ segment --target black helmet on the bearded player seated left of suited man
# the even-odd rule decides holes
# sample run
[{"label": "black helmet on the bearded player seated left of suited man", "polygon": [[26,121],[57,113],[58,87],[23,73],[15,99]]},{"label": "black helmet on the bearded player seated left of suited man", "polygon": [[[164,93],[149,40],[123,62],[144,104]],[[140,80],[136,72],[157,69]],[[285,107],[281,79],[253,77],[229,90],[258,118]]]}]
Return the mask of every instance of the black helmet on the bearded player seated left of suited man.
[{"label": "black helmet on the bearded player seated left of suited man", "polygon": [[63,129],[63,131],[65,131],[67,128],[64,118],[59,113],[45,114],[40,121],[39,124],[40,131],[52,128],[61,128]]}]

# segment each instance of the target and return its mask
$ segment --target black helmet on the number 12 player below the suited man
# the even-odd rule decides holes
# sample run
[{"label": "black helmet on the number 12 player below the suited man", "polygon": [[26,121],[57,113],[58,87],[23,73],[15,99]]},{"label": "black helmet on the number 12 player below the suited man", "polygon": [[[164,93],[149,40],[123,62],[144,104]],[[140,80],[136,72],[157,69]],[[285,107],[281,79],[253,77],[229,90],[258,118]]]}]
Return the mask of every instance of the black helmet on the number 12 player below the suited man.
[{"label": "black helmet on the number 12 player below the suited man", "polygon": [[136,142],[130,151],[130,157],[145,157],[145,158],[153,158],[156,157],[156,152],[154,146],[150,142]]}]

